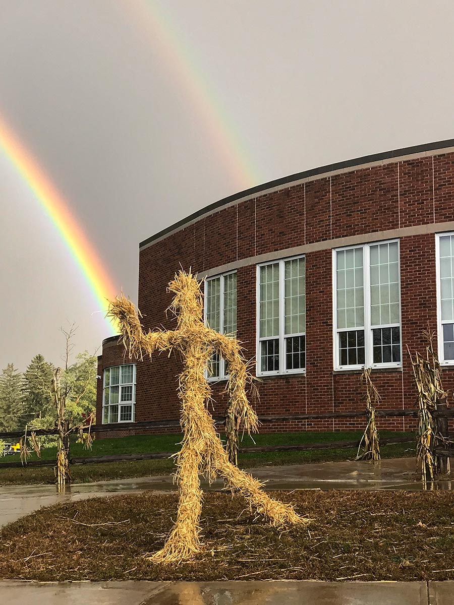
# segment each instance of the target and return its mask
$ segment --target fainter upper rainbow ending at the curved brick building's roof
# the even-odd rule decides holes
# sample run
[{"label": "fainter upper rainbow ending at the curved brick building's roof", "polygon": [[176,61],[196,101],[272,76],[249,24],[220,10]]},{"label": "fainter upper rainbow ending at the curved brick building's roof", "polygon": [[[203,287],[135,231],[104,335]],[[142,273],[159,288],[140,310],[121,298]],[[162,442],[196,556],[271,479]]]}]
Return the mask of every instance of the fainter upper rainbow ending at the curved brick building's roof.
[{"label": "fainter upper rainbow ending at the curved brick building's roof", "polygon": [[185,44],[173,22],[154,0],[130,0],[138,27],[145,28],[152,43],[159,48],[166,68],[173,72],[179,87],[185,90],[194,110],[205,122],[206,131],[225,166],[239,189],[248,189],[266,178],[253,165],[246,145],[240,137],[219,96],[199,66],[197,57]]}]

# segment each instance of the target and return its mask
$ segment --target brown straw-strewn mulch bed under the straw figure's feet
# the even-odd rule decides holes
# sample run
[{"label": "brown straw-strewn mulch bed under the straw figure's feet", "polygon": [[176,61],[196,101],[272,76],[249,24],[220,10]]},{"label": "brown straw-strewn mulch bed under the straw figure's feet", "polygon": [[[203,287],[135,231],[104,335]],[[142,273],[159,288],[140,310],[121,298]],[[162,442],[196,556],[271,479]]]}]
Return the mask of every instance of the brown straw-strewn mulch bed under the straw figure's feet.
[{"label": "brown straw-strewn mulch bed under the straw figure's feet", "polygon": [[[272,492],[273,493],[273,492]],[[157,565],[176,494],[43,508],[0,532],[0,578],[62,580],[452,580],[454,493],[274,492],[313,518],[272,528],[240,497],[205,495],[204,551]]]}]

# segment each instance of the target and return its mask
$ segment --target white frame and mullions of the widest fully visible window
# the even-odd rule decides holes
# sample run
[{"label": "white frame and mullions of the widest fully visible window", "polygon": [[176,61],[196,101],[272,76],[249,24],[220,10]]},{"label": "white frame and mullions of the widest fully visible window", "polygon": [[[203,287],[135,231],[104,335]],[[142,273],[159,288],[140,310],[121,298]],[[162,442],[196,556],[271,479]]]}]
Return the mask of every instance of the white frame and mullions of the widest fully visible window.
[{"label": "white frame and mullions of the widest fully visible window", "polygon": [[[398,275],[399,275],[399,315],[400,315],[400,361],[399,362],[385,362],[381,364],[373,363],[373,338],[372,330],[380,328],[395,327],[395,324],[383,324],[383,325],[370,325],[370,247],[377,246],[380,244],[392,244],[397,243],[397,258],[398,258]],[[352,249],[363,249],[363,296],[364,296],[364,364],[357,365],[341,365],[339,358],[339,338],[340,332],[355,332],[360,328],[341,328],[337,329],[337,270],[336,260],[337,252],[341,250],[352,250]],[[357,244],[354,246],[342,246],[340,248],[333,248],[332,250],[332,298],[333,298],[333,362],[334,370],[337,371],[352,371],[362,370],[366,368],[380,368],[386,370],[387,368],[401,368],[402,367],[402,296],[401,296],[401,276],[400,276],[400,240],[395,238],[393,240],[383,241],[371,241],[366,244]]]}]

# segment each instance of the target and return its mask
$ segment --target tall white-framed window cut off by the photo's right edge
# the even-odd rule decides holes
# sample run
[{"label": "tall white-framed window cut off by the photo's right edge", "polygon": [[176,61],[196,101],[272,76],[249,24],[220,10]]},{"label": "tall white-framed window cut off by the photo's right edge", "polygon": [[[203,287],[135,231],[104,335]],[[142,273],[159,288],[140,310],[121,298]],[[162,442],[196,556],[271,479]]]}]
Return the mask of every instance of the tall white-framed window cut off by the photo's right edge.
[{"label": "tall white-framed window cut off by the photo's right edge", "polygon": [[454,234],[436,236],[438,357],[454,364]]}]

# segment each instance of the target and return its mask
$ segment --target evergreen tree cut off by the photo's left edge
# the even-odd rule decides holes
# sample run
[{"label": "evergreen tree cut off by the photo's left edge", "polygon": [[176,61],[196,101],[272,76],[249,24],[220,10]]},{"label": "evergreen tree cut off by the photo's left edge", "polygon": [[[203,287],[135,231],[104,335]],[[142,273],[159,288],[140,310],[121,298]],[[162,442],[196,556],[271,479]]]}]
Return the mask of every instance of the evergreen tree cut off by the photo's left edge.
[{"label": "evergreen tree cut off by the photo's left edge", "polygon": [[23,377],[13,364],[0,375],[0,427],[12,431],[21,427],[24,413]]}]

